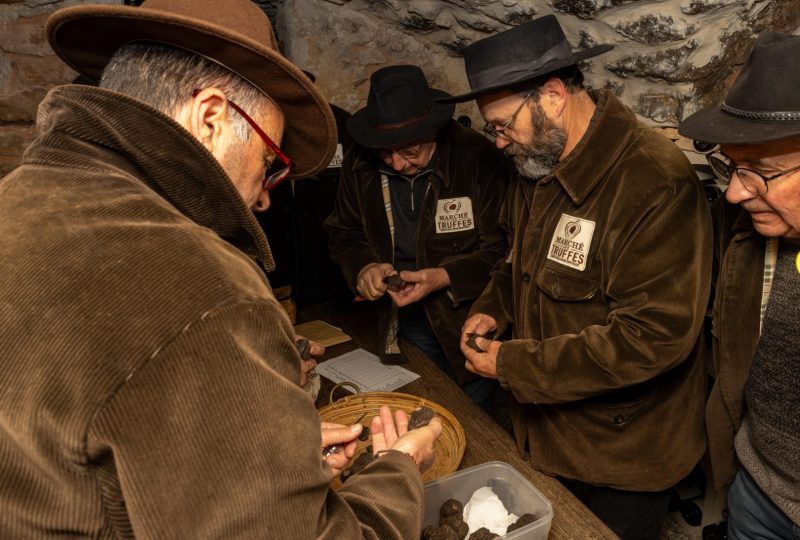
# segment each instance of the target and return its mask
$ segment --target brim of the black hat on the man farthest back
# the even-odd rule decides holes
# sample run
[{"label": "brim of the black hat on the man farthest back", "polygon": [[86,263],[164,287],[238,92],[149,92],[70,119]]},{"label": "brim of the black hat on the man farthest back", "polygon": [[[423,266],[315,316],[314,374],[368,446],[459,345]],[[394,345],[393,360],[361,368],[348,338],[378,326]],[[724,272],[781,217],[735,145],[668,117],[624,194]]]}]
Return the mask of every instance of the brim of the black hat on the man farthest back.
[{"label": "brim of the black hat on the man farthest back", "polygon": [[364,107],[347,121],[347,131],[365,148],[392,148],[434,136],[453,117],[456,106],[441,102],[442,98],[450,96],[447,92],[433,88],[430,92],[434,98],[433,110],[419,122],[395,129],[377,129],[367,120],[367,108]]}]

